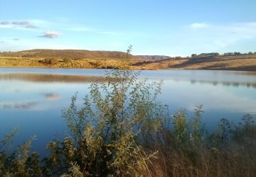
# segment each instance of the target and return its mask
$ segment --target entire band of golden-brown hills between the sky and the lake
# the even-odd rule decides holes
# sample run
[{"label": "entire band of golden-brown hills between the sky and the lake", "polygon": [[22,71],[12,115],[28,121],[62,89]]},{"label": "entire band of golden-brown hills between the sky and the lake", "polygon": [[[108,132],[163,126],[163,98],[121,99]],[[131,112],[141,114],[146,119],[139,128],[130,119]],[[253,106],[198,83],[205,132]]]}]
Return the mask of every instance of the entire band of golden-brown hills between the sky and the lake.
[{"label": "entire band of golden-brown hills between the sky and the lake", "polygon": [[[256,54],[209,53],[191,57],[130,56],[131,69],[223,69],[256,71]],[[0,67],[119,69],[124,52],[88,50],[26,50],[0,52]],[[152,59],[153,58],[153,59]]]}]

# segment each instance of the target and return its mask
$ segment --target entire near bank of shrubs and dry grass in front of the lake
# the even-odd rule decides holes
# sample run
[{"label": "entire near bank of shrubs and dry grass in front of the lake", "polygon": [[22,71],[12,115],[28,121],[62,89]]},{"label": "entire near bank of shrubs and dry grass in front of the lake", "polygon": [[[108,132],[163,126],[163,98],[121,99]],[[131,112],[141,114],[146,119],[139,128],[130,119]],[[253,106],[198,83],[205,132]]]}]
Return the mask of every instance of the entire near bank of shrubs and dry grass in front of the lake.
[{"label": "entire near bank of shrubs and dry grass in front of the lake", "polygon": [[192,119],[185,110],[169,115],[157,97],[161,83],[137,80],[138,72],[107,72],[92,82],[82,104],[77,96],[63,110],[70,135],[31,152],[33,137],[14,152],[16,130],[0,142],[0,176],[255,176],[256,125],[220,120],[208,134],[202,106]]}]

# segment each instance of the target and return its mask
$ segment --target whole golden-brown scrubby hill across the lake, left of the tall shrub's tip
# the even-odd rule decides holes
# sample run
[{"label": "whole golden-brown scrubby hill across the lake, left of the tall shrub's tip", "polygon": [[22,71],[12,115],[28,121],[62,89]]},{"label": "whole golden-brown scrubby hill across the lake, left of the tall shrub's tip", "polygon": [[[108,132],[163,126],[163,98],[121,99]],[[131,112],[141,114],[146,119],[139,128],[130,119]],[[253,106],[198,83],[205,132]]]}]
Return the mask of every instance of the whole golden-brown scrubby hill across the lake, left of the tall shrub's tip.
[{"label": "whole golden-brown scrubby hill across the lake, left of the tall shrub's tip", "polygon": [[52,67],[118,69],[125,59],[142,62],[126,52],[90,50],[23,50],[0,52],[0,67]]}]

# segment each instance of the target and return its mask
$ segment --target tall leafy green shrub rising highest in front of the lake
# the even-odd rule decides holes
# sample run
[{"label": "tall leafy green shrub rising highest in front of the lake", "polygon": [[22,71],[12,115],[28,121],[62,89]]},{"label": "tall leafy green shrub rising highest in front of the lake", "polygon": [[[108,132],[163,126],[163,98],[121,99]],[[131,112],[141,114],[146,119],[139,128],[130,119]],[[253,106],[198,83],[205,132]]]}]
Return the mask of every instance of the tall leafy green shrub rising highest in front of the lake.
[{"label": "tall leafy green shrub rising highest in front of the lake", "polygon": [[[156,96],[161,84],[137,81],[137,74],[129,70],[107,72],[105,83],[91,84],[82,108],[78,109],[75,95],[63,112],[72,132],[70,141],[76,144],[71,146],[75,149],[71,160],[77,162],[81,173],[139,175],[154,156],[144,152],[137,139],[146,143],[159,127],[162,113]],[[50,145],[51,152],[63,149],[55,144],[54,148]]]}]

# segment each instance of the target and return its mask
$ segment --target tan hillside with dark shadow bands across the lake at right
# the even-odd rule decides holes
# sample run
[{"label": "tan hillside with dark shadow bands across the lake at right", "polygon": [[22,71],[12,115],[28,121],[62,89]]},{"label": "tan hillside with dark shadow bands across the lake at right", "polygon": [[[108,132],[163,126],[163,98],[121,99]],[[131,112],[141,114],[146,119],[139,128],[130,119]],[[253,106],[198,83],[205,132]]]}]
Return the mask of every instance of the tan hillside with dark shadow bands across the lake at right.
[{"label": "tan hillside with dark shadow bands across the lake at right", "polygon": [[137,62],[134,69],[221,69],[256,72],[256,54],[206,55]]}]

